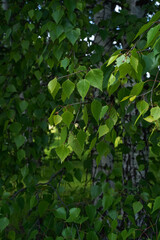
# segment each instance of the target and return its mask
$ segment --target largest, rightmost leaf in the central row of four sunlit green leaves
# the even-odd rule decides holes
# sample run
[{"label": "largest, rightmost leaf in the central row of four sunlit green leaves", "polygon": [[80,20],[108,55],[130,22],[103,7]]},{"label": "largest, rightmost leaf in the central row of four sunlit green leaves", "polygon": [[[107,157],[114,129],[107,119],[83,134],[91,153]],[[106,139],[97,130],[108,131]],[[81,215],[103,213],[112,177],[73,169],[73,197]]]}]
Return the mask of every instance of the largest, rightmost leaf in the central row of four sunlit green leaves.
[{"label": "largest, rightmost leaf in the central row of four sunlit green leaves", "polygon": [[100,69],[91,69],[85,77],[91,86],[98,88],[102,91],[103,72]]}]

